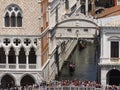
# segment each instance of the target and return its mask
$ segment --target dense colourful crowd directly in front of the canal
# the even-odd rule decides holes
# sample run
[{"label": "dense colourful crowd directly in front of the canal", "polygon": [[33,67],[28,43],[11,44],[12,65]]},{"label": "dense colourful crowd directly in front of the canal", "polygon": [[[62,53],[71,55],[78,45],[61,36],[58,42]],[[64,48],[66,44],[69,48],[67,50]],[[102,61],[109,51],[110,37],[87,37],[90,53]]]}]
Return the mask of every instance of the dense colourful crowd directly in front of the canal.
[{"label": "dense colourful crowd directly in front of the canal", "polygon": [[56,80],[51,80],[49,82],[42,81],[40,86],[81,86],[81,87],[101,87],[101,84],[97,83],[96,81],[81,81],[81,80],[62,80],[62,81],[56,81]]}]

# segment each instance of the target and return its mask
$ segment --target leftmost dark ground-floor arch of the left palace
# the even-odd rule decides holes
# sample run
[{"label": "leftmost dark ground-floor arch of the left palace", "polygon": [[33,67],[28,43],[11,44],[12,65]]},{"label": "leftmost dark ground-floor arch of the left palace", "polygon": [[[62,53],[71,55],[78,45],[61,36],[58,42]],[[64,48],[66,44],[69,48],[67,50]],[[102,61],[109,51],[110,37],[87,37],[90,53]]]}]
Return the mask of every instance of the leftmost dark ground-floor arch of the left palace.
[{"label": "leftmost dark ground-floor arch of the left palace", "polygon": [[11,88],[14,86],[15,86],[15,81],[14,81],[13,77],[11,77],[10,75],[3,76],[3,78],[1,79],[1,87],[2,88]]}]

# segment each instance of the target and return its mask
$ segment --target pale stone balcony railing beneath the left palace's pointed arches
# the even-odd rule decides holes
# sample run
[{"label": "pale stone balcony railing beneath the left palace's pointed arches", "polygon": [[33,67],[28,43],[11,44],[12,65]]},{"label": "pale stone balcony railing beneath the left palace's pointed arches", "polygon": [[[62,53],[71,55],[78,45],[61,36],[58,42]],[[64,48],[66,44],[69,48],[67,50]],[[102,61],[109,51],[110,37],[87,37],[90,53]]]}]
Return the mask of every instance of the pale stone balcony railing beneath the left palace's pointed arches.
[{"label": "pale stone balcony railing beneath the left palace's pointed arches", "polygon": [[[28,66],[28,68],[27,68]],[[18,67],[18,68],[17,68]],[[0,63],[0,69],[36,69],[36,64],[5,64]]]}]

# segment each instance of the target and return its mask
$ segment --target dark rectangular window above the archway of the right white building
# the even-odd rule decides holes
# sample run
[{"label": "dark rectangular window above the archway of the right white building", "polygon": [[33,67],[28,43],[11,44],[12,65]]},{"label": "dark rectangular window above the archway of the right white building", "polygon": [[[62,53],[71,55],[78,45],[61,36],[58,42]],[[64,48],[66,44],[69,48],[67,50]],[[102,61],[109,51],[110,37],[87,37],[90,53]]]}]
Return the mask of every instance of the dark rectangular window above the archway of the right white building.
[{"label": "dark rectangular window above the archway of the right white building", "polygon": [[119,57],[119,42],[112,41],[111,42],[111,58]]}]

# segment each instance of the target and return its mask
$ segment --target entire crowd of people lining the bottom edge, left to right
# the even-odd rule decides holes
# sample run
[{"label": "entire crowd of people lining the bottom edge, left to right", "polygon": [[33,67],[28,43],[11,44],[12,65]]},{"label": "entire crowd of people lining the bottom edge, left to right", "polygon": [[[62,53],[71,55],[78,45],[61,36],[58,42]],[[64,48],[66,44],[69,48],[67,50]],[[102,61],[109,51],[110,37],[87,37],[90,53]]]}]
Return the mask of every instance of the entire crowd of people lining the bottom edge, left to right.
[{"label": "entire crowd of people lining the bottom edge, left to right", "polygon": [[[89,80],[51,80],[49,82],[47,81],[41,81],[40,85],[34,84],[34,85],[26,85],[26,86],[19,86],[19,87],[11,87],[7,88],[6,90],[55,90],[55,89],[45,89],[45,88],[62,88],[66,87],[62,90],[69,90],[69,88],[81,88],[80,90],[120,90],[119,86],[116,85],[106,85],[103,86],[100,83],[96,81],[89,81]],[[5,89],[0,89],[5,90]],[[57,89],[59,90],[59,89]],[[60,89],[61,90],[61,89]],[[70,90],[79,90],[79,89],[70,89]]]}]

